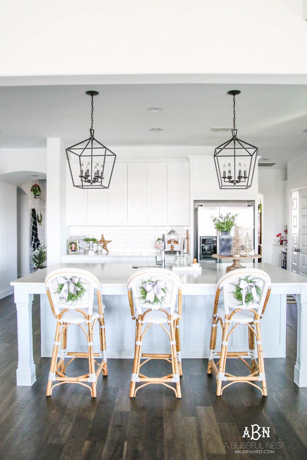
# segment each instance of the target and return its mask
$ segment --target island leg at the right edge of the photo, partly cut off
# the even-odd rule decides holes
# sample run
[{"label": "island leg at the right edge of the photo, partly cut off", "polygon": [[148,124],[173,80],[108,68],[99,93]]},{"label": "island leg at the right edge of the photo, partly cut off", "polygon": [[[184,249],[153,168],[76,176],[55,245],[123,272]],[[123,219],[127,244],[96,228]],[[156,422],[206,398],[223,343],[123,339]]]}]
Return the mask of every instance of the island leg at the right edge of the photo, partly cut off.
[{"label": "island leg at the right edge of the photo, partly cut off", "polygon": [[307,386],[307,288],[301,287],[297,302],[297,349],[294,381],[298,386]]}]

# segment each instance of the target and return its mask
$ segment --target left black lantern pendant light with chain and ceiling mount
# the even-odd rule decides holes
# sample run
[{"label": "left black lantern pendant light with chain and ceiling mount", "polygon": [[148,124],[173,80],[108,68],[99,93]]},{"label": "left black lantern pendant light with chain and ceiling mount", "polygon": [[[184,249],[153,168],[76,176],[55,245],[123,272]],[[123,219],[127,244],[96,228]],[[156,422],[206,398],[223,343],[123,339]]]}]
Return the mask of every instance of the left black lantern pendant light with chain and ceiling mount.
[{"label": "left black lantern pendant light with chain and ceiling mount", "polygon": [[99,93],[87,91],[86,94],[92,98],[90,137],[66,149],[71,179],[79,189],[108,189],[116,154],[94,138],[93,96]]}]

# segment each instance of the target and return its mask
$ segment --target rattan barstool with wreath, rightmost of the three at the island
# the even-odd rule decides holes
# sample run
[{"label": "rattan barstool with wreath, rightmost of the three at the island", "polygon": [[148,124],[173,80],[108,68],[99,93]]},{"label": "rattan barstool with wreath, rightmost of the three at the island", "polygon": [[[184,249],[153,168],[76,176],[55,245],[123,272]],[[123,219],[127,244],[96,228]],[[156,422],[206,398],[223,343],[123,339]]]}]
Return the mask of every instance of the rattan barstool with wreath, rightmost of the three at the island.
[{"label": "rattan barstool with wreath, rightmost of the three at the island", "polygon": [[[235,297],[236,289],[238,292],[238,286],[240,288],[239,292],[242,293],[242,300],[238,300],[237,295]],[[219,305],[221,289],[223,289],[224,294],[224,305]],[[247,293],[249,293],[249,298],[252,296],[252,301],[248,304],[245,303],[245,296]],[[216,375],[217,396],[220,396],[227,386],[236,382],[249,383],[250,385],[258,388],[263,396],[267,396],[260,320],[266,309],[270,293],[270,277],[266,274],[266,272],[258,269],[248,270],[243,268],[234,270],[231,273],[222,276],[217,283],[208,362],[208,374],[211,374],[213,370]],[[218,323],[220,323],[222,328],[221,351],[215,351],[216,330]],[[232,323],[232,328],[228,332]],[[249,351],[227,351],[229,337],[239,324],[244,324],[248,327]],[[255,357],[255,338],[258,352],[258,362]],[[220,357],[219,362],[217,363],[214,362],[215,356]],[[249,356],[251,358],[251,365],[249,365],[242,356]],[[249,375],[238,377],[226,373],[225,368],[227,357],[236,357],[243,361],[249,368]],[[229,383],[222,387],[223,381]],[[256,381],[261,381],[262,388],[255,384]]]}]

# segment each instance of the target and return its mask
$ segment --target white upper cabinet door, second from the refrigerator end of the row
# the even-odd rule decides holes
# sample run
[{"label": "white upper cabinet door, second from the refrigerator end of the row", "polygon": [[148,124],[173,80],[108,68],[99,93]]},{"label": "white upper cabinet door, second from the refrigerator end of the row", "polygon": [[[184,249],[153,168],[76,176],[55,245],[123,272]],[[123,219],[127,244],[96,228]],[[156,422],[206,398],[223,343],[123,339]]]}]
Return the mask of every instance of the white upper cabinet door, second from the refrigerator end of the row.
[{"label": "white upper cabinet door, second from the refrigerator end of the row", "polygon": [[167,165],[148,163],[147,168],[147,224],[164,225],[168,211]]}]

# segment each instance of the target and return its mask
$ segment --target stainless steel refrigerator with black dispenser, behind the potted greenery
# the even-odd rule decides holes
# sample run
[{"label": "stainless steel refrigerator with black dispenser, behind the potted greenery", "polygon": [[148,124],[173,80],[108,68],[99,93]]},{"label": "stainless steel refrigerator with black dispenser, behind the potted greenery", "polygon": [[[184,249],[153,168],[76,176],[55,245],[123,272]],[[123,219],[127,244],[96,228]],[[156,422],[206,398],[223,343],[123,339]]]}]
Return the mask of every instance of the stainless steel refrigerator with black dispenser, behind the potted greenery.
[{"label": "stainless steel refrigerator with black dispenser, behind the potted greenery", "polygon": [[238,226],[253,229],[252,241],[255,242],[255,210],[247,202],[240,206],[225,206],[217,203],[215,206],[198,205],[194,209],[194,257],[198,262],[215,262],[212,254],[219,252],[218,231],[212,223],[212,216],[219,217],[226,213],[238,214]]}]

